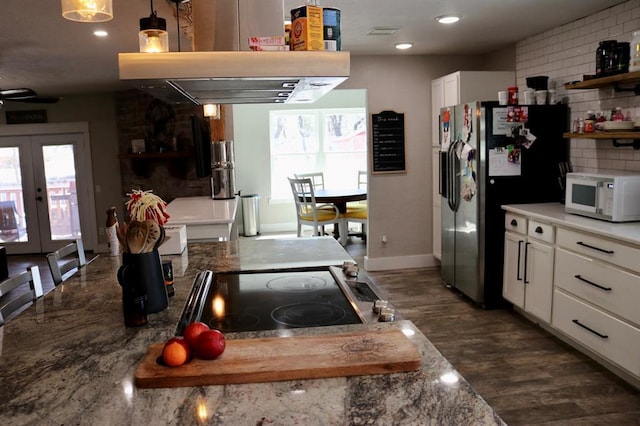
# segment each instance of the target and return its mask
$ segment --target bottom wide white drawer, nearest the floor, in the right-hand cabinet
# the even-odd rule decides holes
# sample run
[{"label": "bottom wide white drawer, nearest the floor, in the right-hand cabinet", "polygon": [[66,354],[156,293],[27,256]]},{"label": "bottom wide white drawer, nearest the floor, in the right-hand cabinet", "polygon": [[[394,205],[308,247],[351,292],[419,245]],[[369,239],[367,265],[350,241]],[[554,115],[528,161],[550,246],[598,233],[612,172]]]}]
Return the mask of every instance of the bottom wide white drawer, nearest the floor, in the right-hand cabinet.
[{"label": "bottom wide white drawer, nearest the floor, in the right-hand cabinet", "polygon": [[555,290],[553,295],[552,324],[584,346],[640,377],[639,329],[580,302],[561,290]]}]

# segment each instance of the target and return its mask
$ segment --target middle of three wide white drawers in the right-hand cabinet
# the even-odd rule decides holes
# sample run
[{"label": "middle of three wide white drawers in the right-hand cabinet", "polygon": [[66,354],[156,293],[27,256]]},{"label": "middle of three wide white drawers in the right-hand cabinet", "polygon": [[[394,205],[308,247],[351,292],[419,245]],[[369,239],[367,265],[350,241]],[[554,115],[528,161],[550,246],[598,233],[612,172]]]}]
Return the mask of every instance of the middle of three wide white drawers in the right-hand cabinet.
[{"label": "middle of three wide white drawers in the right-hand cabinet", "polygon": [[640,325],[640,276],[562,248],[555,263],[556,287]]}]

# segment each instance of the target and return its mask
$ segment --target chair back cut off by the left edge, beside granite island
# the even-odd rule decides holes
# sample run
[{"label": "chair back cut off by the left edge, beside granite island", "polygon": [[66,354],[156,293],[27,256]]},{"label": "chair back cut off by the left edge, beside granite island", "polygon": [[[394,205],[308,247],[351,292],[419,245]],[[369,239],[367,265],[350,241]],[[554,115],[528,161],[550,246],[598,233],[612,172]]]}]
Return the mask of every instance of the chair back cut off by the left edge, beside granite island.
[{"label": "chair back cut off by the left edge, beside granite island", "polygon": [[[29,284],[29,287],[26,286]],[[0,326],[5,319],[44,294],[40,270],[30,266],[26,271],[0,282]]]}]

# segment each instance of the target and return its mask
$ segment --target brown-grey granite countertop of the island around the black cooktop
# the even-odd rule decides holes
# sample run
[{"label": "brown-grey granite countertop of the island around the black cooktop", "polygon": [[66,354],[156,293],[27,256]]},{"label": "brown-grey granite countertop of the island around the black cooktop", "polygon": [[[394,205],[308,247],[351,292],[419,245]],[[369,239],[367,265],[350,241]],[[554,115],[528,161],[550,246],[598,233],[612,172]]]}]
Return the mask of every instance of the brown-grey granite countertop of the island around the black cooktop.
[{"label": "brown-grey granite countertop of the island around the black cooktop", "polygon": [[[244,241],[189,244],[189,266],[175,279],[175,297],[166,310],[149,315],[146,326],[124,327],[116,281],[120,258],[100,256],[1,327],[2,424],[504,424],[408,321],[295,329],[290,335],[399,328],[422,354],[416,372],[136,388],[140,360],[150,344],[172,335],[195,274],[251,259],[254,248]],[[270,241],[260,250],[283,245]],[[308,254],[313,258],[313,250]]]}]

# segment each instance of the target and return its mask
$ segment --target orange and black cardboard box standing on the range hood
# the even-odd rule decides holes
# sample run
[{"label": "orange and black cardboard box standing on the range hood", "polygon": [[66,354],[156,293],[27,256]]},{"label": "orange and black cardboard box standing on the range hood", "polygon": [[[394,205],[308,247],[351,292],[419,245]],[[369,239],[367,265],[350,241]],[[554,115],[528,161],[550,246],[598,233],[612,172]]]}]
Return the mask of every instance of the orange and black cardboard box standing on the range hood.
[{"label": "orange and black cardboard box standing on the range hood", "polygon": [[291,50],[324,50],[322,7],[291,9]]}]

